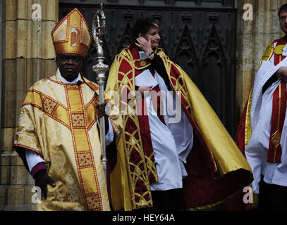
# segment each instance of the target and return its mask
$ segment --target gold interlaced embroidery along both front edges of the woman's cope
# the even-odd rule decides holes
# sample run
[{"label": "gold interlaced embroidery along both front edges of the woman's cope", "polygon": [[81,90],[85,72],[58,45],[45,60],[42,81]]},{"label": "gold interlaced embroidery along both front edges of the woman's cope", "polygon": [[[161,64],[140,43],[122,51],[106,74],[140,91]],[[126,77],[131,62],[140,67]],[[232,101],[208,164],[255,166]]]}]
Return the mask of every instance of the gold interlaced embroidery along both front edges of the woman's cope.
[{"label": "gold interlaced embroidery along both front edges of the woman's cope", "polygon": [[[171,71],[171,68],[174,70],[181,71],[179,66],[171,63],[169,58],[163,55],[161,50],[157,51],[157,54],[161,56],[161,58],[164,59],[164,65],[168,73]],[[133,61],[133,56],[130,53],[129,49],[126,49],[120,54],[120,56],[116,57],[116,64],[121,65],[121,62],[123,60]],[[140,65],[142,65],[141,63],[142,62],[140,62]],[[126,73],[122,71],[118,72],[118,74],[122,76],[121,80],[117,79],[117,82],[118,82],[117,87],[121,91],[123,91],[123,89],[125,88],[128,89],[128,91],[134,91],[133,84],[135,82],[135,65],[134,64],[130,64],[130,65],[132,65],[133,68],[129,70],[128,72]],[[187,94],[185,80],[183,79],[183,74],[181,72],[178,72],[178,74],[180,74],[179,77],[171,76],[171,84],[173,84],[173,88],[176,91],[176,94],[181,95],[181,98],[184,98],[185,101],[188,103],[185,107],[188,113],[191,115],[192,114],[192,110],[190,108],[191,104],[190,104],[190,99]],[[132,105],[133,108],[129,108],[130,105]],[[125,101],[121,99],[121,103],[120,103],[121,110],[128,110],[128,115],[123,115],[124,126],[126,126],[126,123],[128,122],[128,120],[132,120],[137,126],[137,129],[133,132],[133,134],[128,134],[127,132],[125,132],[124,134],[124,145],[126,149],[126,162],[128,162],[128,167],[127,167],[128,176],[129,176],[128,180],[130,183],[130,196],[131,196],[131,203],[133,205],[133,209],[144,207],[152,203],[148,176],[150,173],[152,173],[154,174],[156,179],[158,179],[155,162],[152,162],[152,160],[150,159],[152,155],[150,155],[149,158],[147,158],[142,152],[140,127],[139,127],[139,122],[138,122],[138,116],[135,113],[137,111],[136,105],[137,104],[135,103],[135,98],[130,99],[128,103],[126,103]],[[138,154],[140,155],[141,160],[138,162],[138,165],[134,165],[130,162],[130,154],[133,150],[138,151]],[[134,168],[133,171],[131,171],[130,167]],[[147,188],[147,191],[145,193],[142,193],[142,195],[140,195],[139,193],[135,191],[135,187],[137,186],[137,183],[139,180],[142,181]],[[146,198],[147,195],[149,195],[149,198]],[[135,198],[139,198],[139,200],[136,201]]]}]

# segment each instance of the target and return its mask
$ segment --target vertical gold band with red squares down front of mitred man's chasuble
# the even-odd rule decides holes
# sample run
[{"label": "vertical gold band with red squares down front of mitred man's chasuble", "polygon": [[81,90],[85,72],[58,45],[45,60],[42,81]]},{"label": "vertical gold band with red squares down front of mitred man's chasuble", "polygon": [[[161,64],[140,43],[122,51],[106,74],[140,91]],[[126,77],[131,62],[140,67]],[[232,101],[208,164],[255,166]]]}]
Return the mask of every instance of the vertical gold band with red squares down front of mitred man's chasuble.
[{"label": "vertical gold band with red squares down front of mitred man's chasuble", "polygon": [[[80,186],[83,191],[85,205],[88,210],[102,210],[102,197],[99,190],[97,170],[94,165],[90,136],[87,133],[87,118],[85,117],[85,104],[82,90],[78,86],[65,85],[66,100],[71,124],[84,126],[71,126],[75,158],[78,157],[77,169]],[[90,154],[90,155],[89,155]],[[89,165],[89,167],[87,167]],[[84,185],[89,183],[89,188]]]}]

